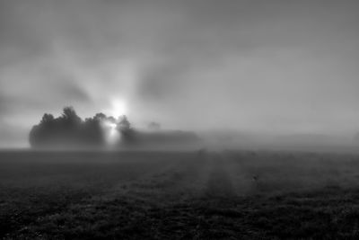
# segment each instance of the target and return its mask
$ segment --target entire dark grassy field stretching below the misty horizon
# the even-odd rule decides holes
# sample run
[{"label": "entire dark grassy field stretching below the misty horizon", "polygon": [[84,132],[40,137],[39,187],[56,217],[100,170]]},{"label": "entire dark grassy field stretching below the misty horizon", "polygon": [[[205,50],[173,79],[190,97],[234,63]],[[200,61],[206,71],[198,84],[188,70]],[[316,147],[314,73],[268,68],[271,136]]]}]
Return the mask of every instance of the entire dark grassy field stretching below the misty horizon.
[{"label": "entire dark grassy field stretching below the misty horizon", "polygon": [[359,156],[0,153],[3,239],[358,239]]}]

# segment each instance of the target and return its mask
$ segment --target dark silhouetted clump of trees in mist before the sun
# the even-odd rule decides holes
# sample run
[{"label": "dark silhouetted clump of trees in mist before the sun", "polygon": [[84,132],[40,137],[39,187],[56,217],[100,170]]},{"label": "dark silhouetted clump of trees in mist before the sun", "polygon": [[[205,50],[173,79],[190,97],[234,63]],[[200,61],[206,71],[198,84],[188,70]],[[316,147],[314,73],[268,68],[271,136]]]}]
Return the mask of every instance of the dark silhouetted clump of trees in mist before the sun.
[{"label": "dark silhouetted clump of trees in mist before the sun", "polygon": [[65,107],[58,118],[45,113],[38,125],[32,127],[29,140],[31,147],[103,147],[116,129],[120,134],[116,146],[168,146],[193,144],[198,138],[193,132],[163,131],[152,122],[153,131],[141,132],[132,128],[126,115],[116,120],[103,113],[82,120],[72,107]]}]

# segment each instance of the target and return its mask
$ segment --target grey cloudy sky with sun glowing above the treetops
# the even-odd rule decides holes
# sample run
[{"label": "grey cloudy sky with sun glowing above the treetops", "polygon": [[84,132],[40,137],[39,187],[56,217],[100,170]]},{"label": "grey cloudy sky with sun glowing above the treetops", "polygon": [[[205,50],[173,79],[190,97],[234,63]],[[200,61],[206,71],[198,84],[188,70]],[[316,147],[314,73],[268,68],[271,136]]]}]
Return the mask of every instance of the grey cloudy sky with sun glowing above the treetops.
[{"label": "grey cloudy sky with sun glowing above the treetops", "polygon": [[45,112],[359,131],[357,0],[0,0],[0,147]]}]

